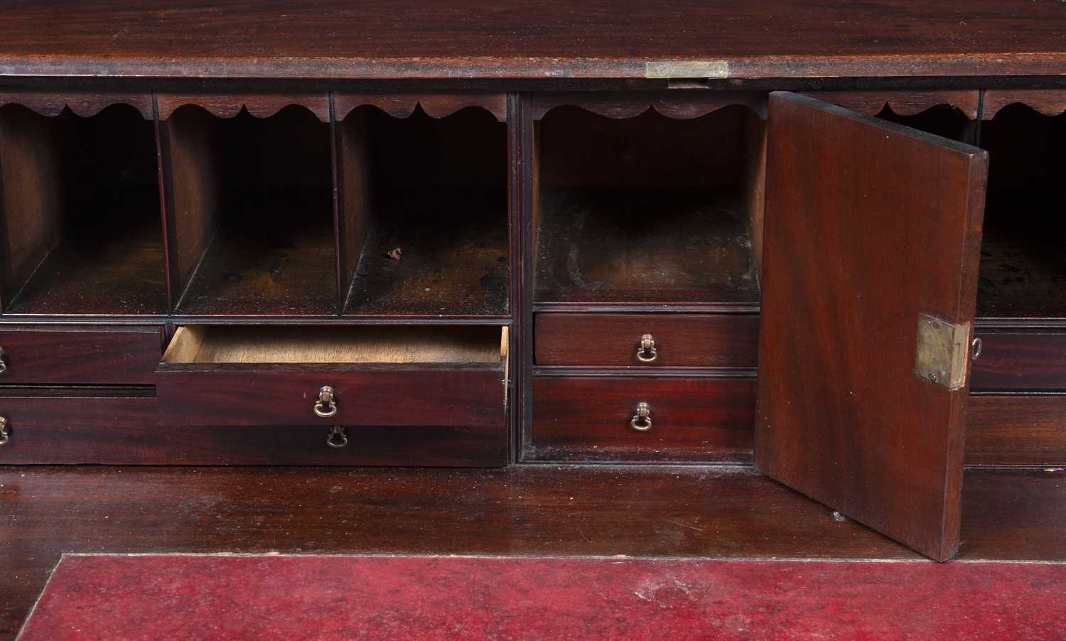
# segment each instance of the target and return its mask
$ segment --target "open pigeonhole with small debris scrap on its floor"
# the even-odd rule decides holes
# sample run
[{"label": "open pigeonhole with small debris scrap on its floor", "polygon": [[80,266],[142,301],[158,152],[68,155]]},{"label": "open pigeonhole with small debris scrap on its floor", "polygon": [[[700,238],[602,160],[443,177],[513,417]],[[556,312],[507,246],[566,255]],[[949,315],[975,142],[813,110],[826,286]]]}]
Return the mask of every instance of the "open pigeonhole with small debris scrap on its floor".
[{"label": "open pigeonhole with small debris scrap on its floor", "polygon": [[506,126],[469,107],[343,121],[345,314],[507,314]]}]

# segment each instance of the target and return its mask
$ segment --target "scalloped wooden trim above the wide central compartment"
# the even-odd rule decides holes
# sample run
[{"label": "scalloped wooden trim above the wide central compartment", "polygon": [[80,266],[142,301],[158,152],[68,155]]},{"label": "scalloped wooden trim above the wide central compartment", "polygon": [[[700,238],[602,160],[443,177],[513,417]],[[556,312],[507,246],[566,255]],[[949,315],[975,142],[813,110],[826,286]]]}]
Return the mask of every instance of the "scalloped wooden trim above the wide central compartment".
[{"label": "scalloped wooden trim above the wide central compartment", "polygon": [[556,107],[578,107],[610,118],[632,118],[653,110],[671,118],[698,118],[733,105],[743,105],[766,119],[764,92],[558,92],[534,93],[532,116],[539,121]]}]

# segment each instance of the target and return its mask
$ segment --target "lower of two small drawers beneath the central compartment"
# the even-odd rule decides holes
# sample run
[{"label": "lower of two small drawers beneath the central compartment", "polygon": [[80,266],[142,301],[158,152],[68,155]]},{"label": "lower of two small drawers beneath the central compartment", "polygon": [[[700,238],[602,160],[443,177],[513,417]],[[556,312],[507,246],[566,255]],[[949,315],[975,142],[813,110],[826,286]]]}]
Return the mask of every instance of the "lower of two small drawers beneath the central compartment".
[{"label": "lower of two small drawers beneath the central compartment", "polygon": [[523,458],[749,463],[755,391],[754,378],[536,376]]}]

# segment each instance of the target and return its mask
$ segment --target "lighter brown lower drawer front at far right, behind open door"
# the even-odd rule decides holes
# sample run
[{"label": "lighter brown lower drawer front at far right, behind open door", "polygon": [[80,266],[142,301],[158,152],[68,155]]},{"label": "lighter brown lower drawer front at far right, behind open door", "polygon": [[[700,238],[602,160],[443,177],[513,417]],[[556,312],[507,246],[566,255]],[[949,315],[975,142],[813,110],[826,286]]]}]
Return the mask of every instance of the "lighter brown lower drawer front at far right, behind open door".
[{"label": "lighter brown lower drawer front at far right, behind open door", "polygon": [[970,396],[966,464],[1066,467],[1066,394]]}]

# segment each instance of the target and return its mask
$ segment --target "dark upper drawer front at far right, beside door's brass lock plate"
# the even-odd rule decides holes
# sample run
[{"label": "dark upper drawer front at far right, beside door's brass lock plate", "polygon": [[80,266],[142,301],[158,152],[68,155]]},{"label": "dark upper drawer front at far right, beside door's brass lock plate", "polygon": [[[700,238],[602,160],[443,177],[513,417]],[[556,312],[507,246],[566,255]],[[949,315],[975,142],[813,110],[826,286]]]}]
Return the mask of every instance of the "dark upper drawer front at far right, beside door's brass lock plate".
[{"label": "dark upper drawer front at far right, beside door's brass lock plate", "polygon": [[971,389],[1066,389],[1066,333],[976,332]]}]

